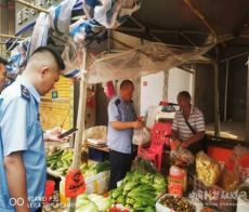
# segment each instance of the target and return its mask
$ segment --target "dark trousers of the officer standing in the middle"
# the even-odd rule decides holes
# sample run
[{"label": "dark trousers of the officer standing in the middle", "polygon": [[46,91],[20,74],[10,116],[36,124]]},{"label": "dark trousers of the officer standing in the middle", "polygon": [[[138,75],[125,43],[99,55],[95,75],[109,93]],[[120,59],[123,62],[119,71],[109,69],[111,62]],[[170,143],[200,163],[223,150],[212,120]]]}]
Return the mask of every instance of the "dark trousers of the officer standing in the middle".
[{"label": "dark trousers of the officer standing in the middle", "polygon": [[117,188],[117,182],[124,178],[127,172],[131,170],[132,159],[133,154],[122,154],[115,150],[109,151],[109,190]]}]

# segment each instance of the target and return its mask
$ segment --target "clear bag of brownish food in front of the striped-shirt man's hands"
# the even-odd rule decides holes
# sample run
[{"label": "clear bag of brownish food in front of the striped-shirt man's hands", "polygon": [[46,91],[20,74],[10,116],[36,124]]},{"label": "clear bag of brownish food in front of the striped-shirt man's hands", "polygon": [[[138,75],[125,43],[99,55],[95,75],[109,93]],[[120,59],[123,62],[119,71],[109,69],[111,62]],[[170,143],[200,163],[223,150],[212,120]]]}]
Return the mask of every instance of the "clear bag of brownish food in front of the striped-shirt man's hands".
[{"label": "clear bag of brownish food in front of the striped-shirt man's hands", "polygon": [[193,163],[195,161],[195,157],[193,154],[184,148],[176,147],[170,153],[170,159],[173,161]]}]

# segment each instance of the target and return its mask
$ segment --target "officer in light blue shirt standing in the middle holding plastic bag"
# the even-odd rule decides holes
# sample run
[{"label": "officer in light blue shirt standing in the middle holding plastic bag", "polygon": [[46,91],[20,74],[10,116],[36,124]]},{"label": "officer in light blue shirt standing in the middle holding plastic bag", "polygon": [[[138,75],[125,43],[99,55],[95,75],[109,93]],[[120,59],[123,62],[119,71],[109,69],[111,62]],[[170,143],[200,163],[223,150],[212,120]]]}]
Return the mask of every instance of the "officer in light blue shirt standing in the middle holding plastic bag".
[{"label": "officer in light blue shirt standing in the middle holding plastic bag", "polygon": [[117,182],[126,176],[132,163],[132,136],[133,130],[142,128],[136,120],[132,104],[134,85],[130,80],[120,84],[119,95],[114,97],[108,105],[108,136],[110,178],[109,190],[117,187]]}]

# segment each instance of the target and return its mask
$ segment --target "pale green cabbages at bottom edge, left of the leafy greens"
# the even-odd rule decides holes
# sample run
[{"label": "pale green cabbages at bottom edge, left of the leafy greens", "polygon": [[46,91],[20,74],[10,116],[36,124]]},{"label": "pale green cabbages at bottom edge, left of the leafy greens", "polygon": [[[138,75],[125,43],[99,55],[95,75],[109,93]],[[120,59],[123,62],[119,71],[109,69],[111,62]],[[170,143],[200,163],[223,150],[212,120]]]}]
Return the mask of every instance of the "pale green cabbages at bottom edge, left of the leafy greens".
[{"label": "pale green cabbages at bottom edge, left of the leafy greens", "polygon": [[105,212],[110,208],[108,198],[99,195],[80,195],[77,197],[76,212]]}]

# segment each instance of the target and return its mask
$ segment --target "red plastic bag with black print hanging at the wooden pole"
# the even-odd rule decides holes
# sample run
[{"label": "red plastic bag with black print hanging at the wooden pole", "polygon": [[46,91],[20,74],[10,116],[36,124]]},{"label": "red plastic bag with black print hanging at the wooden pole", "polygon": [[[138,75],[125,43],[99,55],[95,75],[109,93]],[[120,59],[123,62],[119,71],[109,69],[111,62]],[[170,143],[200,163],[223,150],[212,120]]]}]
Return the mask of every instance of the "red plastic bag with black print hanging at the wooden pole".
[{"label": "red plastic bag with black print hanging at the wooden pole", "polygon": [[65,197],[77,197],[86,191],[84,178],[81,170],[68,169],[65,182]]}]

